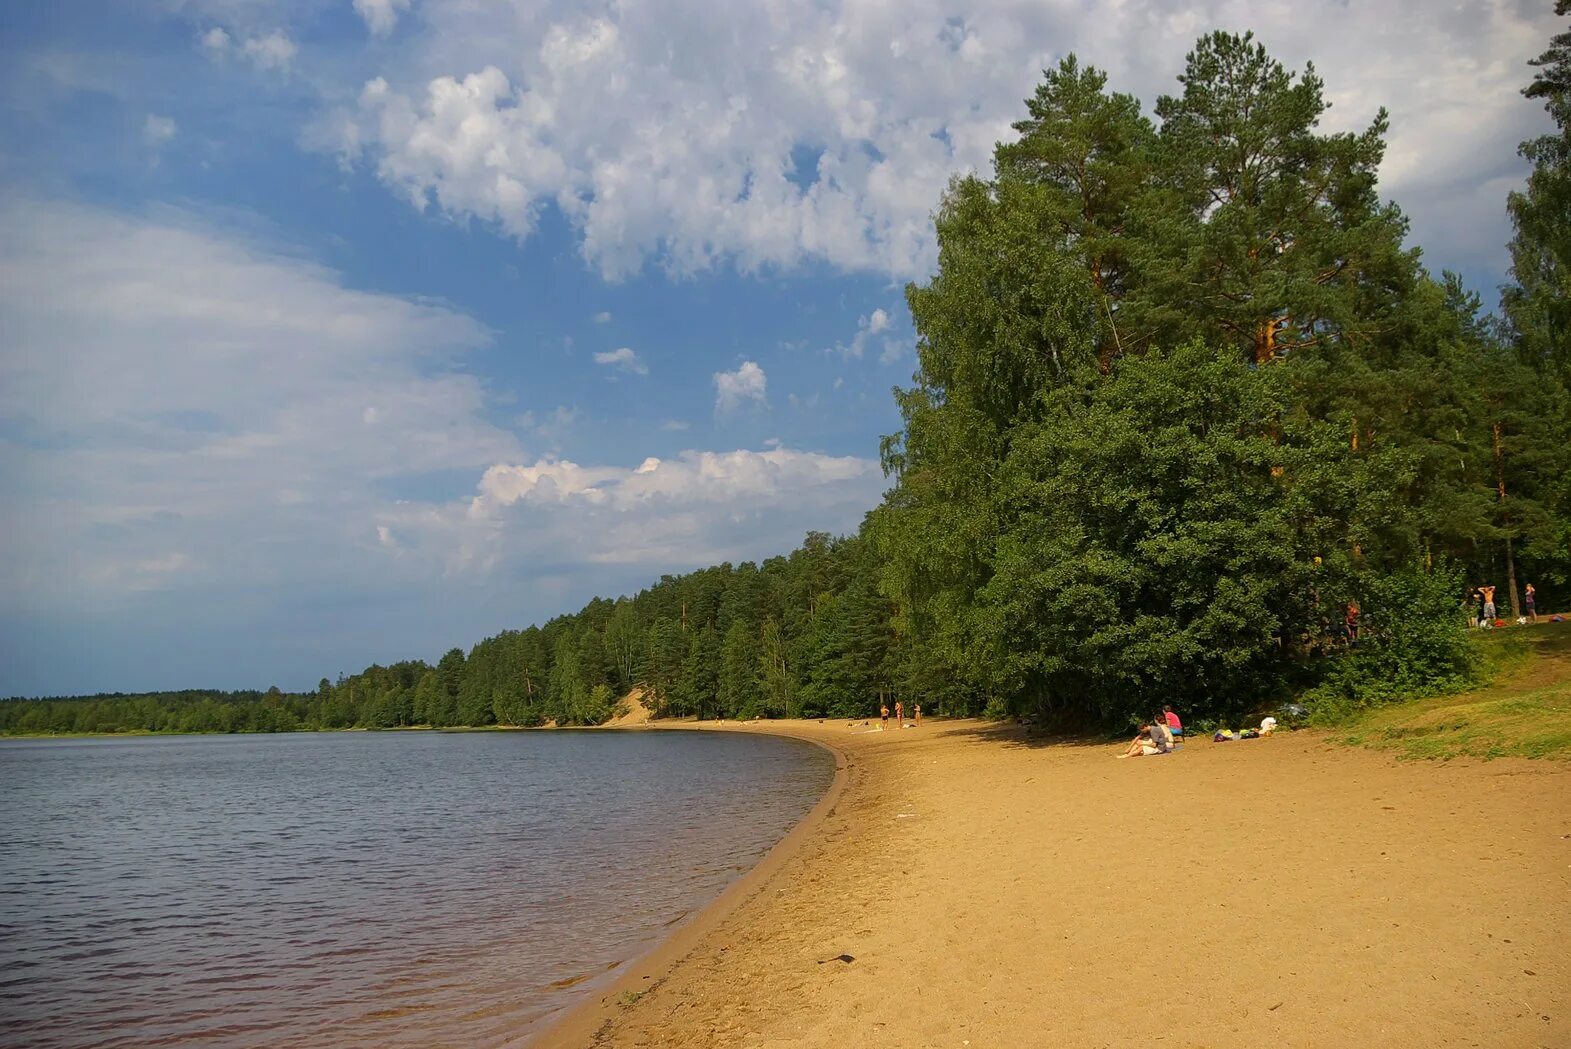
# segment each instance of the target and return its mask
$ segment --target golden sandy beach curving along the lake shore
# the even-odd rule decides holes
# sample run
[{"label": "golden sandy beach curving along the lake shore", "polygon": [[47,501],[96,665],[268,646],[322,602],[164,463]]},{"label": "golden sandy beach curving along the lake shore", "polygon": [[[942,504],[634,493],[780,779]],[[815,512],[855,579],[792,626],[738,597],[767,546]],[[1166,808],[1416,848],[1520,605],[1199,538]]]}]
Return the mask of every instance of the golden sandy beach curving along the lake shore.
[{"label": "golden sandy beach curving along the lake shore", "polygon": [[792,730],[836,809],[547,1046],[1571,1046],[1562,763]]}]

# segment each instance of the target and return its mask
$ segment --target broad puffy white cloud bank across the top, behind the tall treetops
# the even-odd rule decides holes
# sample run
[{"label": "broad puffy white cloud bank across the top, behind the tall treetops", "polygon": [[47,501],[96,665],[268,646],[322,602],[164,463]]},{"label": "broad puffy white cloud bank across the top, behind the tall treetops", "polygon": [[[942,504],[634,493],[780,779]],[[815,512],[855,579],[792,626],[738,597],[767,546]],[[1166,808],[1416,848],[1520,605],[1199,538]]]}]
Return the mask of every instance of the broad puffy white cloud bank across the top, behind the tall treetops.
[{"label": "broad puffy white cloud bank across the top, behind the tall treetops", "polygon": [[[1445,261],[1507,239],[1518,96],[1549,5],[1428,0],[939,0],[559,5],[430,0],[399,68],[338,113],[416,206],[528,237],[555,203],[608,276],[825,261],[921,276],[928,215],[955,171],[987,168],[1040,71],[1076,50],[1147,102],[1177,90],[1194,38],[1247,28],[1326,77],[1334,127],[1392,110],[1386,190]],[[1456,214],[1489,218],[1458,231]]]}]

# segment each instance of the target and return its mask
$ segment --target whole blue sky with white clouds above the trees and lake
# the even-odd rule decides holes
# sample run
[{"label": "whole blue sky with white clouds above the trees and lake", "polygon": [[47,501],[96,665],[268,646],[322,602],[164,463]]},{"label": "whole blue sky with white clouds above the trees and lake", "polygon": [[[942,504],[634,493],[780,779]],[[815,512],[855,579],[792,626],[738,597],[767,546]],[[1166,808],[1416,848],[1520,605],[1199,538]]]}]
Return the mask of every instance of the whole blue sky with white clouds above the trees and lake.
[{"label": "whole blue sky with white clouds above the trees and lake", "polygon": [[1547,0],[13,0],[0,696],[313,688],[880,499],[947,181],[1252,28],[1496,302]]}]

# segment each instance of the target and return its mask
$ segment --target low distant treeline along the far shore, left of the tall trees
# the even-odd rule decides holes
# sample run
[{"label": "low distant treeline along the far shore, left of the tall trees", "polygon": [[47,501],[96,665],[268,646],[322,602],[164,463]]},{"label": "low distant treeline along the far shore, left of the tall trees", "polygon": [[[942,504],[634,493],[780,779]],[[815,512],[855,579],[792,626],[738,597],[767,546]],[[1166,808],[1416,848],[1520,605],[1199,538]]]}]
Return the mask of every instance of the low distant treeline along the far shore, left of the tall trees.
[{"label": "low distant treeline along the far shore, left of the tall trees", "polygon": [[0,732],[292,732],[599,724],[635,685],[666,716],[866,715],[902,647],[864,539],[807,535],[762,565],[665,576],[544,627],[372,666],[314,693],[159,693],[0,704]]}]

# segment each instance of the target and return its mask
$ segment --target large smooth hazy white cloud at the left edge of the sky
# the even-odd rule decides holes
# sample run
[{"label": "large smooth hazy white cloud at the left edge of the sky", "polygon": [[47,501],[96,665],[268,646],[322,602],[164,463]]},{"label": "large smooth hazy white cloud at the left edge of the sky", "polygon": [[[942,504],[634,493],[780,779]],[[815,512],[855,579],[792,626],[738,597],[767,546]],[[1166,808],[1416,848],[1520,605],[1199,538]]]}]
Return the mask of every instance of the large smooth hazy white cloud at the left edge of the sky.
[{"label": "large smooth hazy white cloud at the left edge of the sky", "polygon": [[0,611],[342,581],[383,485],[520,451],[474,320],[189,214],[0,203]]}]

